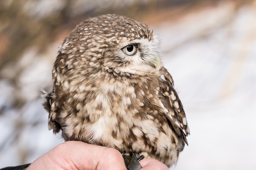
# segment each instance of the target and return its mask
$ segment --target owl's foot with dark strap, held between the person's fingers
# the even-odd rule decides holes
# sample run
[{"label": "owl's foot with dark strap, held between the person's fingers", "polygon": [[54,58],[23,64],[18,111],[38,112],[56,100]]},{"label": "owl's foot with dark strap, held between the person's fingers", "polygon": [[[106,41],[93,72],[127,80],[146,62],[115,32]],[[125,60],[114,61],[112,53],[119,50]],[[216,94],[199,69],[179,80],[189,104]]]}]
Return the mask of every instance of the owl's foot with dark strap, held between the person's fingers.
[{"label": "owl's foot with dark strap, held between the person's fingers", "polygon": [[139,161],[141,159],[144,159],[144,155],[138,155],[136,153],[122,153],[124,157],[124,163],[126,165],[126,168],[128,170],[139,170],[141,169],[141,165],[139,164]]}]

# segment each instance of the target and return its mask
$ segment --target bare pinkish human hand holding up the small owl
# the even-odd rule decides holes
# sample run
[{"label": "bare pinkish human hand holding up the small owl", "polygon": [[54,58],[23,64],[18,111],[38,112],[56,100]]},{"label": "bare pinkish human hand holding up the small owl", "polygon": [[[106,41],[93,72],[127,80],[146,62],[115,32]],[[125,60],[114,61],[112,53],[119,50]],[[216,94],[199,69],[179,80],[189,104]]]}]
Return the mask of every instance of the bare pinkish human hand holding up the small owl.
[{"label": "bare pinkish human hand holding up the small owl", "polygon": [[[168,170],[155,159],[139,161],[141,170]],[[126,170],[118,150],[81,141],[66,141],[29,165],[27,170]]]}]

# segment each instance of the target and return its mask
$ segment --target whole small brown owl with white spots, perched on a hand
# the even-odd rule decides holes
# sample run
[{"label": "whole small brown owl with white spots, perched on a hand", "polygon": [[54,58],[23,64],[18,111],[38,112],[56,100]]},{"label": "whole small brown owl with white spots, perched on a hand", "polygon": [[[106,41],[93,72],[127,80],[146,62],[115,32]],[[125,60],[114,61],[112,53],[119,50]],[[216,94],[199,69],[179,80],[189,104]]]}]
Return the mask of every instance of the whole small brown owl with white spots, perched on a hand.
[{"label": "whole small brown owl with white spots, perched on a hand", "polygon": [[116,14],[81,22],[54,63],[49,130],[175,164],[189,127],[160,53],[146,24]]}]

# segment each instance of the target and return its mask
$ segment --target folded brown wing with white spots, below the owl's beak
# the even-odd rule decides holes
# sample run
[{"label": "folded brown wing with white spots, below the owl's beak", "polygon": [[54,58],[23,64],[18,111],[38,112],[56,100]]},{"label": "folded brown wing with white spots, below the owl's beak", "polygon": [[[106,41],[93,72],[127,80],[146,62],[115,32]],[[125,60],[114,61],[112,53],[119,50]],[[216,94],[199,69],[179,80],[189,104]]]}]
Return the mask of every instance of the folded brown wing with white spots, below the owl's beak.
[{"label": "folded brown wing with white spots, below the owl's beak", "polygon": [[173,78],[164,67],[160,69],[160,72],[159,99],[162,102],[162,108],[166,113],[167,119],[170,121],[170,125],[177,135],[184,138],[187,144],[186,136],[189,135],[189,126],[187,125],[182,103],[173,88]]}]

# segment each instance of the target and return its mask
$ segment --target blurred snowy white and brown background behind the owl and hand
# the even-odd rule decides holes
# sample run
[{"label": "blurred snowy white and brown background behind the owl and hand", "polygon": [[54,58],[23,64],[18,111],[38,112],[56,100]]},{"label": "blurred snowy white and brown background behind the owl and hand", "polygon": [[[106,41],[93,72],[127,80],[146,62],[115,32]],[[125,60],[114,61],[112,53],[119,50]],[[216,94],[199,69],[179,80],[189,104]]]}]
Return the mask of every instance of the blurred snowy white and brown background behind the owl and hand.
[{"label": "blurred snowy white and brown background behind the owl and hand", "polygon": [[48,130],[58,46],[82,20],[117,13],[162,44],[191,130],[175,170],[256,169],[255,0],[0,0],[0,168],[63,142]]}]

